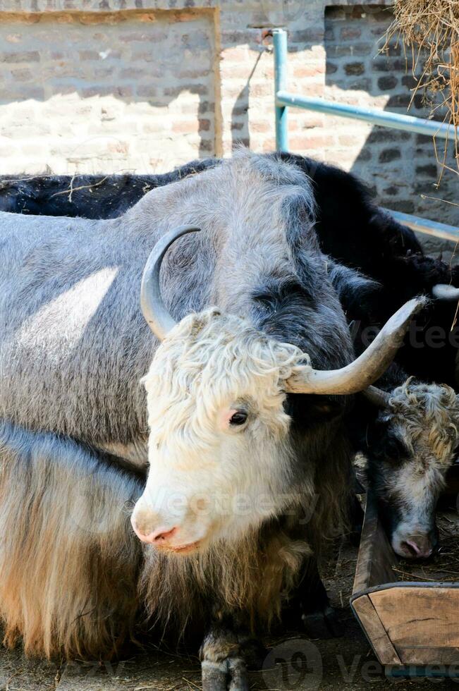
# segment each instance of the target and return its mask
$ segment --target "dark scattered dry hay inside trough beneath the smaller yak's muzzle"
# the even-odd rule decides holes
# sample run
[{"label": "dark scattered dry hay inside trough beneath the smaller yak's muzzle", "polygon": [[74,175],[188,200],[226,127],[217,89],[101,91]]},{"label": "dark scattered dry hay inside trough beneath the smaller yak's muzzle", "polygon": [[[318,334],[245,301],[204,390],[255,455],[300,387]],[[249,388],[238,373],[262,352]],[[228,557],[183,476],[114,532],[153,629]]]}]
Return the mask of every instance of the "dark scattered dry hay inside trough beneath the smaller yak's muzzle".
[{"label": "dark scattered dry hay inside trough beneath the smaller yak's muzzle", "polygon": [[393,571],[400,581],[459,582],[459,516],[449,510],[437,514],[436,525],[440,533],[440,549],[429,561],[416,562],[400,559]]}]

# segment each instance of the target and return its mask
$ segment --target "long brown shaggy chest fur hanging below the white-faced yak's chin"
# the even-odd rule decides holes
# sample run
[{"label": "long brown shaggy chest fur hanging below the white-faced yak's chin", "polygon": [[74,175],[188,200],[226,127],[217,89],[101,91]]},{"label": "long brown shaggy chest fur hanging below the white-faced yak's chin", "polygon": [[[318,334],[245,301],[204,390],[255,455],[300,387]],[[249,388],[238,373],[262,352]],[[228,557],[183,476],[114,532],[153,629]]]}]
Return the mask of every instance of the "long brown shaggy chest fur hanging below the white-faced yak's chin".
[{"label": "long brown shaggy chest fur hanging below the white-faced yak's chin", "polygon": [[310,546],[274,521],[233,543],[221,541],[192,558],[145,550],[141,592],[159,629],[182,635],[215,611],[237,611],[244,623],[266,630],[297,584]]}]

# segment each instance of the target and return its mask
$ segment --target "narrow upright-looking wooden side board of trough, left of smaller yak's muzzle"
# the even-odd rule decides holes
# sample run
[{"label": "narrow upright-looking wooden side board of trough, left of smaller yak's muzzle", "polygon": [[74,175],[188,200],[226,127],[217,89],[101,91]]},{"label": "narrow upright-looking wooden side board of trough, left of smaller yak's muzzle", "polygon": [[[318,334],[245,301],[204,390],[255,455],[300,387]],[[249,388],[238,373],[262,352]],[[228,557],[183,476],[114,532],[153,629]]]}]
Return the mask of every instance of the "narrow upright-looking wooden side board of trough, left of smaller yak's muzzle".
[{"label": "narrow upright-looking wooden side board of trough, left of smaller yak's muzzle", "polygon": [[384,583],[396,582],[397,578],[391,567],[397,561],[398,558],[393,553],[379,520],[376,501],[369,493],[355,568],[353,593],[357,594]]}]

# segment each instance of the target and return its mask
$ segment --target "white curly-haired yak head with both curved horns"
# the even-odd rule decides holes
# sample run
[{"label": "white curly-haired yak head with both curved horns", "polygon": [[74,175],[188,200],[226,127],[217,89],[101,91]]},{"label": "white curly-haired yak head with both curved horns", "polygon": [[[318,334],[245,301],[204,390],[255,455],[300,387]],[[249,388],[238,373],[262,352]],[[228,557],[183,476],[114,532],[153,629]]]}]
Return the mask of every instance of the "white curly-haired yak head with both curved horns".
[{"label": "white curly-haired yak head with both curved horns", "polygon": [[132,515],[143,542],[180,554],[240,539],[305,500],[298,497],[287,393],[367,388],[391,362],[421,304],[407,303],[350,365],[317,371],[295,345],[216,308],[173,321],[159,268],[173,240],[193,230],[161,238],[142,279],[142,311],[161,343],[144,379],[149,474]]}]

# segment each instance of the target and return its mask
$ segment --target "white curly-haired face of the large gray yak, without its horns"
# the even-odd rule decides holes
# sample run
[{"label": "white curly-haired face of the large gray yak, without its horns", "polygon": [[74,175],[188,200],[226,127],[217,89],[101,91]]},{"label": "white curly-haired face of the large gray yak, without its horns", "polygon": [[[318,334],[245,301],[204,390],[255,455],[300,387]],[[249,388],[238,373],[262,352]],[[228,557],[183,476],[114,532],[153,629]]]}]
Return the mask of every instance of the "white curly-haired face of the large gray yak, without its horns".
[{"label": "white curly-haired face of the large gray yak, without its horns", "polygon": [[[285,381],[309,357],[245,319],[209,309],[185,317],[147,376],[149,476],[133,520],[178,527],[174,544],[237,540],[295,504]],[[242,408],[231,427],[225,413]],[[176,504],[171,501],[175,497]]]}]

